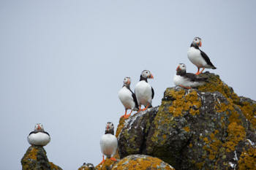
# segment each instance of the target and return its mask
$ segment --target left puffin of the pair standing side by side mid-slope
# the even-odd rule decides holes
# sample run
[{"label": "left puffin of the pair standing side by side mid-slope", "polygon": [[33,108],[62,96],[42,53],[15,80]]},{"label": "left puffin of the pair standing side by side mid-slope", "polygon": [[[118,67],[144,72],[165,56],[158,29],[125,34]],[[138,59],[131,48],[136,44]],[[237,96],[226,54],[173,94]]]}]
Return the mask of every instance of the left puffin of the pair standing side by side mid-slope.
[{"label": "left puffin of the pair standing side by side mid-slope", "polygon": [[[118,98],[120,99],[121,103],[124,105],[125,113],[121,117],[128,118],[133,110],[138,110],[138,102],[135,96],[135,93],[129,88],[131,84],[131,78],[125,77],[124,78],[124,85],[121,90],[118,91]],[[127,115],[127,109],[131,109],[129,115]]]}]

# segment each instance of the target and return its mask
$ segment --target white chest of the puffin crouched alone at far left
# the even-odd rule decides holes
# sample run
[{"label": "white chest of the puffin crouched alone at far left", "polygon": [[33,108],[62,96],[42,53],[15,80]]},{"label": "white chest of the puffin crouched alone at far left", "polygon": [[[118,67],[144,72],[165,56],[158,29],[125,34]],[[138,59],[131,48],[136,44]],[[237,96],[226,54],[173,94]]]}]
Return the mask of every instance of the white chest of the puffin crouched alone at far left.
[{"label": "white chest of the puffin crouched alone at far left", "polygon": [[28,142],[37,146],[45,146],[50,142],[50,136],[42,132],[37,132],[28,136]]}]

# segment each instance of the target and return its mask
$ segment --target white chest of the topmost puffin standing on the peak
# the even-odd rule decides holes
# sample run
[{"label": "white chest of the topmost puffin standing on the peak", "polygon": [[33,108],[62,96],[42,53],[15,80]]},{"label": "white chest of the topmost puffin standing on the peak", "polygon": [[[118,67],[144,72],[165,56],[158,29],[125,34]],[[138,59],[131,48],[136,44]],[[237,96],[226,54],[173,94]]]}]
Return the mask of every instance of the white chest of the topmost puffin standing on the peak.
[{"label": "white chest of the topmost puffin standing on the peak", "polygon": [[189,61],[194,63],[197,67],[203,67],[207,65],[206,61],[201,55],[200,50],[196,49],[195,47],[189,47],[189,50],[187,51],[187,56],[189,58]]}]

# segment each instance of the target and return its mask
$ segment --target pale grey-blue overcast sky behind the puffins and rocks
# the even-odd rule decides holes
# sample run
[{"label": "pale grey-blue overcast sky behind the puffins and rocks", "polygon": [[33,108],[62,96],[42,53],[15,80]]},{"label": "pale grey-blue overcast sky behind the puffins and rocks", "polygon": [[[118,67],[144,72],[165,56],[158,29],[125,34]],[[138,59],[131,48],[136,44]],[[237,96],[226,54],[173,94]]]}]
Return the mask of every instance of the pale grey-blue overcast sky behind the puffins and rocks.
[{"label": "pale grey-blue overcast sky behind the puffins and rocks", "polygon": [[[124,107],[143,69],[161,103],[195,36],[222,80],[256,99],[256,1],[0,0],[0,169],[21,169],[26,137],[42,123],[48,158],[63,169],[102,159],[105,123]],[[116,127],[115,127],[116,128]]]}]

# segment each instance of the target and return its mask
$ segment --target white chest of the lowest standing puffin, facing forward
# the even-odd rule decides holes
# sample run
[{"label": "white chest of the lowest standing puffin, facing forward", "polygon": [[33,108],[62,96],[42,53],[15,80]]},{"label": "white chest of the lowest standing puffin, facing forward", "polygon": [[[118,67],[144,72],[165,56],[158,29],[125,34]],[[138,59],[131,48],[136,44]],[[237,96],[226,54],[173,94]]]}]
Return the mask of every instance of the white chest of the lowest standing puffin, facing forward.
[{"label": "white chest of the lowest standing puffin, facing forward", "polygon": [[104,134],[100,139],[100,148],[102,153],[110,158],[112,155],[116,153],[117,149],[117,139],[113,134]]}]

